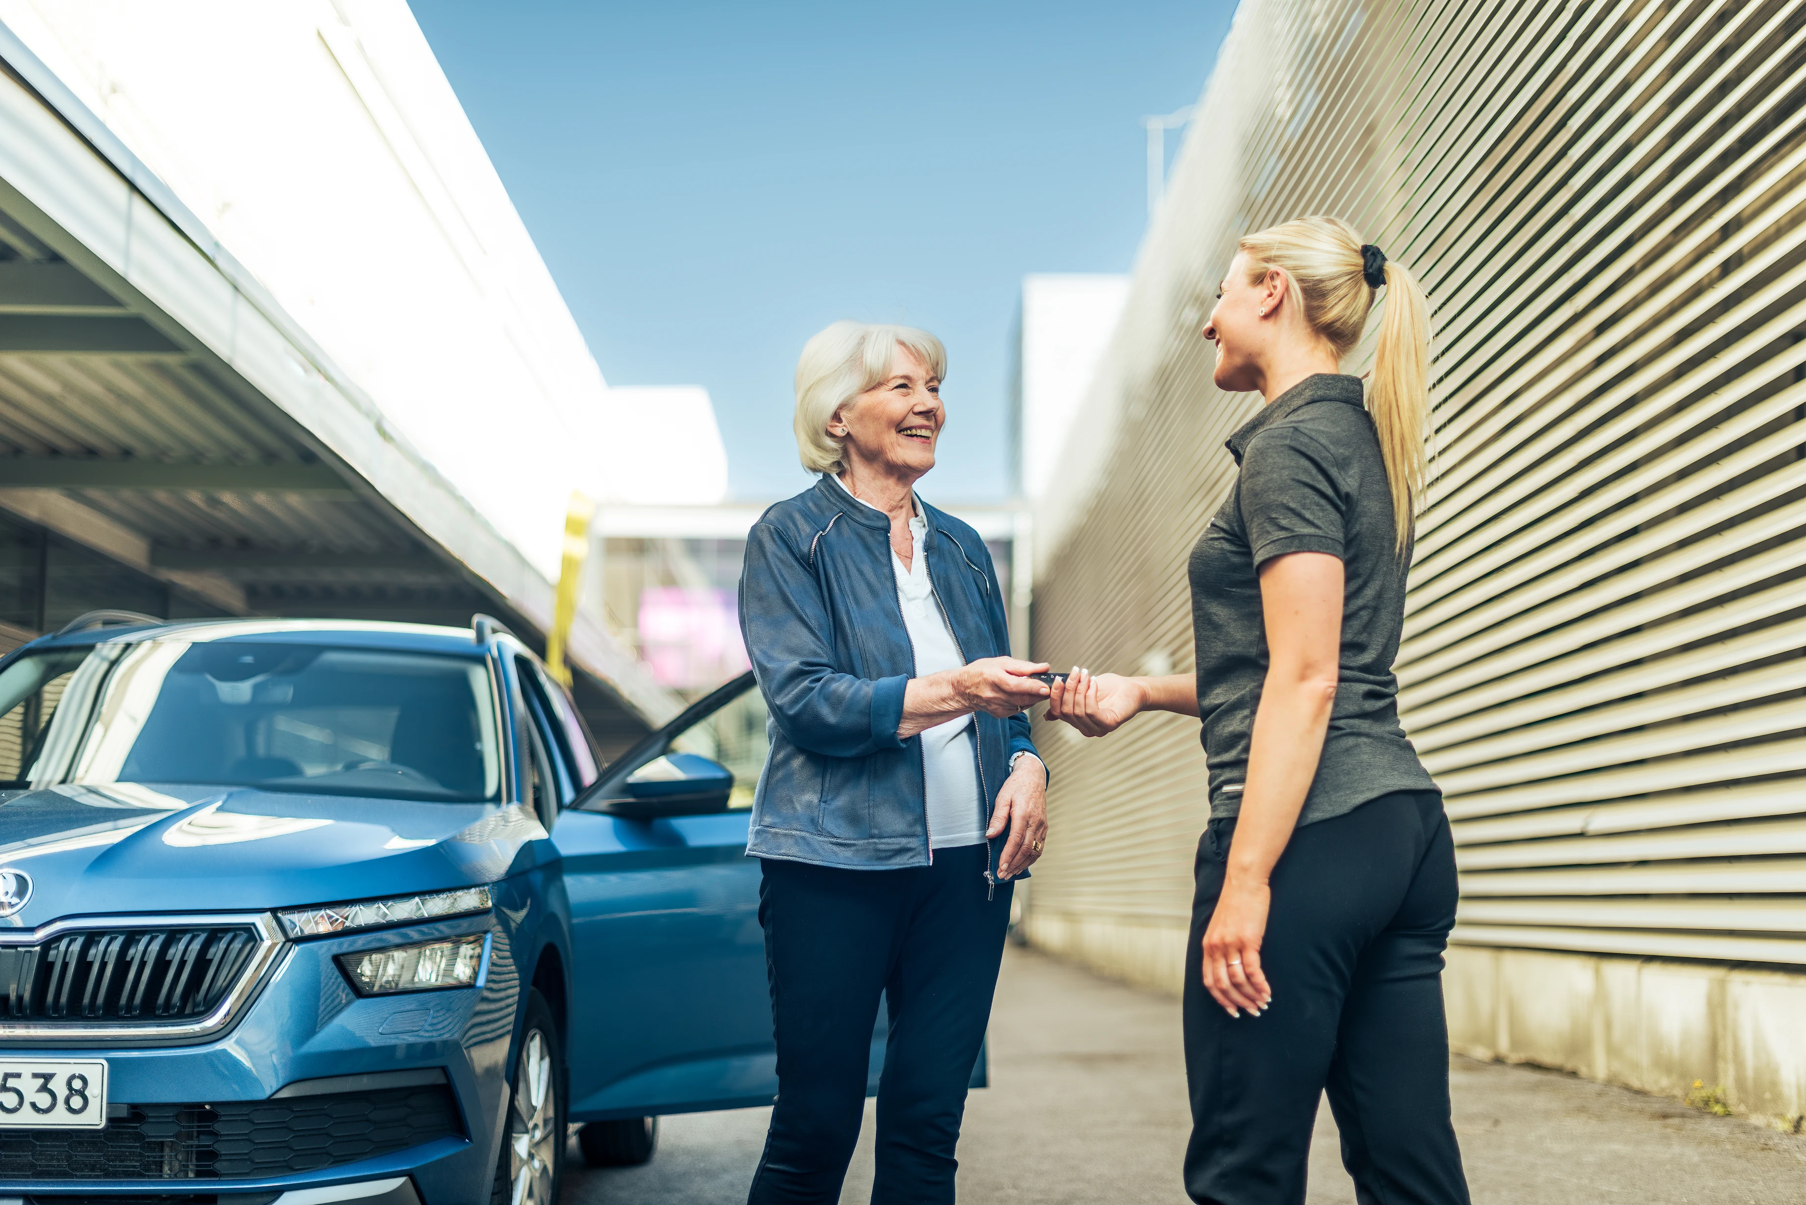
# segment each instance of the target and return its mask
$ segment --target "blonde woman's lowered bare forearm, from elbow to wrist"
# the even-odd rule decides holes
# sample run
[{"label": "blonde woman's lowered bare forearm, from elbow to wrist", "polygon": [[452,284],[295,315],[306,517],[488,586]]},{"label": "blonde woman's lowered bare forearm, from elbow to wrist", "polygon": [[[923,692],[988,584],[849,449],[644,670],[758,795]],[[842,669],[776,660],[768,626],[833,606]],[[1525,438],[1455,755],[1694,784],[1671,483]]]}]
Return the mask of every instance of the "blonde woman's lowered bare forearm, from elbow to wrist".
[{"label": "blonde woman's lowered bare forearm, from elbow to wrist", "polygon": [[1230,842],[1230,882],[1264,885],[1286,853],[1322,761],[1335,697],[1335,681],[1275,681],[1268,674],[1253,714],[1248,779]]}]

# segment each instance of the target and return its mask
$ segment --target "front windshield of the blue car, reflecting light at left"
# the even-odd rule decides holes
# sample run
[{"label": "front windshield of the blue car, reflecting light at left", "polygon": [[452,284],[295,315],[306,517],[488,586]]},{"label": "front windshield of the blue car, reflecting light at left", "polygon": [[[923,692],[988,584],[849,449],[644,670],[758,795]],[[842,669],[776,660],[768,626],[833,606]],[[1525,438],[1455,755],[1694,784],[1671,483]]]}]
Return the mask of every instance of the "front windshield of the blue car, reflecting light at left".
[{"label": "front windshield of the blue car, reflecting light at left", "polygon": [[150,640],[0,672],[0,786],[193,782],[444,802],[498,797],[484,661]]}]

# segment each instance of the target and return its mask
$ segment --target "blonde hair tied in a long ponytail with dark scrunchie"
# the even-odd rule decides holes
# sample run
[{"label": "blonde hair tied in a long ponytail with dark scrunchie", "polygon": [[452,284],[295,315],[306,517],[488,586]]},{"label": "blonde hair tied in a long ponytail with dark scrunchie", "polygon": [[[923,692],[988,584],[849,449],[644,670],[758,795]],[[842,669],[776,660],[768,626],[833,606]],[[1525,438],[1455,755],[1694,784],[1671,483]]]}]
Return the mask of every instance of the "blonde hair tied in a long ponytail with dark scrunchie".
[{"label": "blonde hair tied in a long ponytail with dark scrunchie", "polygon": [[[1244,235],[1237,249],[1248,257],[1248,278],[1286,273],[1304,307],[1304,320],[1338,358],[1360,343],[1376,289],[1367,278],[1367,251],[1354,228],[1335,217],[1306,217]],[[1373,251],[1378,257],[1378,249]],[[1410,544],[1410,528],[1423,495],[1425,439],[1430,428],[1430,304],[1416,276],[1385,260],[1385,313],[1374,349],[1367,412],[1380,435],[1380,457],[1392,493],[1392,531],[1398,555]]]}]

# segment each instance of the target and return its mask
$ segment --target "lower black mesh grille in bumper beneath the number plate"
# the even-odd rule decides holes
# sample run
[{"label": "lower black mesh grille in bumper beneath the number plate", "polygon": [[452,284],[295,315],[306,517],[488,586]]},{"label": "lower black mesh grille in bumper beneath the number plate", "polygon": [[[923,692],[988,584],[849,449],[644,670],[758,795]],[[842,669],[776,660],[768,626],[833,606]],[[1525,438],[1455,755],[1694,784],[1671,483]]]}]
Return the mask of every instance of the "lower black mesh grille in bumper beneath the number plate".
[{"label": "lower black mesh grille in bumper beneath the number plate", "polygon": [[444,1084],[367,1093],[134,1104],[107,1129],[0,1129],[5,1180],[258,1180],[461,1136]]}]

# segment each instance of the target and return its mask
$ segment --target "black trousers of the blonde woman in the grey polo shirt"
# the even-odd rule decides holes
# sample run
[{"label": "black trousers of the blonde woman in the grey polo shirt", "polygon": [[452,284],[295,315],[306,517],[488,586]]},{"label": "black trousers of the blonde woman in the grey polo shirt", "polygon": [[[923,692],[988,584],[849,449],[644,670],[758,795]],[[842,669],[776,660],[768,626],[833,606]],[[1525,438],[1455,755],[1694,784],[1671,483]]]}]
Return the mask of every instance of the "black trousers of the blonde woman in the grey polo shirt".
[{"label": "black trousers of the blonde woman in the grey polo shirt", "polygon": [[1185,1191],[1210,1205],[1302,1205],[1327,1089],[1362,1205],[1466,1205],[1448,1118],[1441,972],[1456,856],[1441,799],[1383,795],[1291,835],[1261,941],[1273,1003],[1257,1017],[1230,1017],[1201,977],[1233,831],[1233,818],[1212,820],[1197,847]]}]

